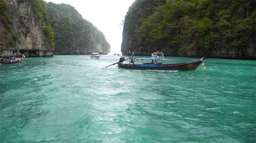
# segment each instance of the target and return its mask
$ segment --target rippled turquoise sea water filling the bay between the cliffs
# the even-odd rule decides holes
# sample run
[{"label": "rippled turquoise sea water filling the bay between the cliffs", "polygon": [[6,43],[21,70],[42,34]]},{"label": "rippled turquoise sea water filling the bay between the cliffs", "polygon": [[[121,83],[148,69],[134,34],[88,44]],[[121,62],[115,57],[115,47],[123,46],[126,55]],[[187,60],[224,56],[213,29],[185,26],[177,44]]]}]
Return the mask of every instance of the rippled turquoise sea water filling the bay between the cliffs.
[{"label": "rippled turquoise sea water filling the bay between the cliffs", "polygon": [[256,61],[208,58],[196,71],[104,68],[118,59],[0,65],[0,143],[256,142]]}]

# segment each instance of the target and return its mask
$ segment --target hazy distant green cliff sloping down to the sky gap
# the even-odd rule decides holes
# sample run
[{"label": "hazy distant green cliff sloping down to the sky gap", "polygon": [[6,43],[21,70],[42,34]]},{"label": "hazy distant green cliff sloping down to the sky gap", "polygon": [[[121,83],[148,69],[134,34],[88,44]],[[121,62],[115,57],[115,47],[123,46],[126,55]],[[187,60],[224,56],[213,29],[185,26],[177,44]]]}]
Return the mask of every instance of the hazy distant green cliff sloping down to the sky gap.
[{"label": "hazy distant green cliff sloping down to the sky gap", "polygon": [[54,54],[108,54],[104,34],[68,4],[46,3],[55,38]]}]

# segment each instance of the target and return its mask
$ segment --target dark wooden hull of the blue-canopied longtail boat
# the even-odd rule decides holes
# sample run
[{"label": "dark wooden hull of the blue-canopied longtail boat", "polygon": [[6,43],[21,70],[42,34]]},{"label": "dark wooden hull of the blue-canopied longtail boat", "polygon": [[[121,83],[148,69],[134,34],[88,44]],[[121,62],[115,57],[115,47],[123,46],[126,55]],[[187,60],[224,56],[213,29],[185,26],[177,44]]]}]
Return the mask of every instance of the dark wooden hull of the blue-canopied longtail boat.
[{"label": "dark wooden hull of the blue-canopied longtail boat", "polygon": [[140,70],[168,70],[168,71],[194,71],[202,63],[201,60],[191,61],[186,63],[178,64],[163,64],[156,66],[139,66],[139,65],[128,65],[123,63],[118,63],[118,68],[125,69],[140,69]]}]

